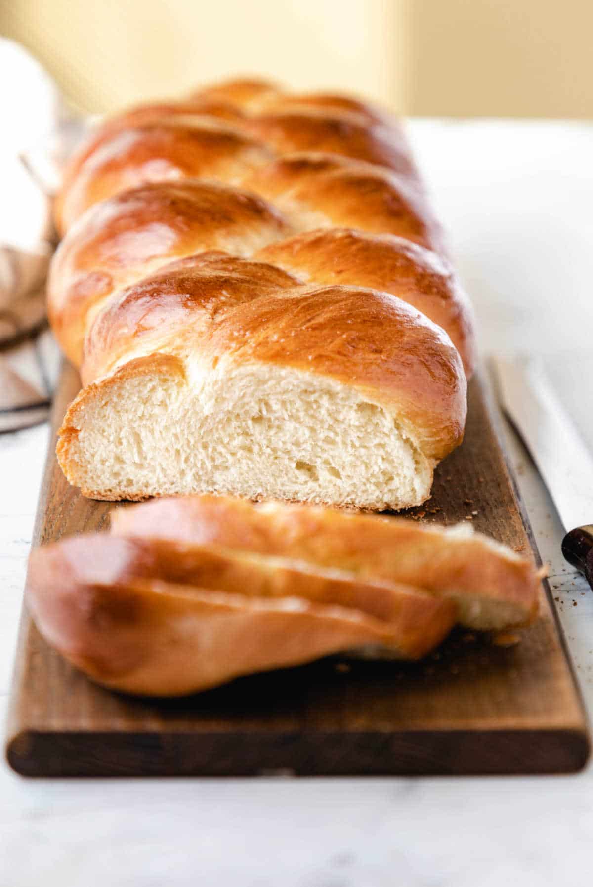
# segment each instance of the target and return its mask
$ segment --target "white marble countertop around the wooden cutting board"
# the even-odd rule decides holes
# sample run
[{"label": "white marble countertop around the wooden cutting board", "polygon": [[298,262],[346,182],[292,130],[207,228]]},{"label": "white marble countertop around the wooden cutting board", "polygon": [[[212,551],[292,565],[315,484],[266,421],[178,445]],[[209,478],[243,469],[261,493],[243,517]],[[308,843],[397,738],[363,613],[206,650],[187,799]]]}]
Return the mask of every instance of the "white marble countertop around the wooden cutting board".
[{"label": "white marble countertop around the wooden cutting board", "polygon": [[[420,166],[476,302],[482,349],[590,349],[593,126],[416,121]],[[525,451],[511,459],[589,713],[593,594]],[[0,436],[0,710],[47,428]],[[576,606],[574,606],[576,603]],[[593,771],[456,779],[35,780],[0,765],[0,887],[576,887]]]}]

